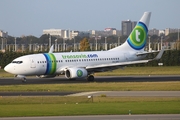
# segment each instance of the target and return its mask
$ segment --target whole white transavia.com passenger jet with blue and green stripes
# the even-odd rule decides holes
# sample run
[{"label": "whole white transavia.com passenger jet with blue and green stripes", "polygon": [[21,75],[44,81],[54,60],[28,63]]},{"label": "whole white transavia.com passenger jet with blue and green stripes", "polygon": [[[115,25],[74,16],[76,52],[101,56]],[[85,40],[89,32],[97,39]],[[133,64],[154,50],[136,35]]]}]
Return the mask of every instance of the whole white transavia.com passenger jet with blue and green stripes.
[{"label": "whole white transavia.com passenger jet with blue and green stripes", "polygon": [[[14,59],[4,70],[26,81],[25,76],[40,78],[65,74],[67,79],[87,78],[93,81],[95,72],[111,71],[126,65],[147,63],[161,58],[161,50],[154,59],[142,60],[149,53],[144,51],[151,12],[145,12],[125,43],[108,51],[64,52],[25,55]],[[156,51],[157,52],[157,51]]]}]

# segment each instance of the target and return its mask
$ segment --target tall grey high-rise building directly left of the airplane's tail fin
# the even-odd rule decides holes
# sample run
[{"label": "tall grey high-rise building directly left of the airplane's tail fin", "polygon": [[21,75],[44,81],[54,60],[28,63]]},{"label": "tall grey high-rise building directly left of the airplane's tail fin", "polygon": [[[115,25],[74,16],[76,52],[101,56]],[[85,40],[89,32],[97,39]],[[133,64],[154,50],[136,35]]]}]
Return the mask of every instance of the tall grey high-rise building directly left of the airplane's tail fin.
[{"label": "tall grey high-rise building directly left of the airplane's tail fin", "polygon": [[121,30],[122,30],[122,35],[129,35],[133,28],[136,26],[137,22],[136,21],[122,21],[121,22]]}]

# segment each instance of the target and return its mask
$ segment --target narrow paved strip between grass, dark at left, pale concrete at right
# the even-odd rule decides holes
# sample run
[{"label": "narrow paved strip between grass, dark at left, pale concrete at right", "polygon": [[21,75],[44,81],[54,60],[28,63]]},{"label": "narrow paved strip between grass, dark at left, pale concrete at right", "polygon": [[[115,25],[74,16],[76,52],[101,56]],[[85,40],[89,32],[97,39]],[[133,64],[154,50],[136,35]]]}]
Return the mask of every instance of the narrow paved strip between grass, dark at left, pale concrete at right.
[{"label": "narrow paved strip between grass, dark at left, pale concrete at right", "polygon": [[180,91],[0,92],[0,96],[180,97]]}]

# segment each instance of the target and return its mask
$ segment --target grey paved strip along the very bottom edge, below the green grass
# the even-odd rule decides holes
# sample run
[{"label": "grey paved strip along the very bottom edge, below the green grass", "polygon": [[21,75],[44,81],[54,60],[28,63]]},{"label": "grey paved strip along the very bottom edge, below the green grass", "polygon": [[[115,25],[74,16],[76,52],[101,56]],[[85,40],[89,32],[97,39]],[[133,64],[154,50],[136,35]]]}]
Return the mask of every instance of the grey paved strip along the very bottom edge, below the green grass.
[{"label": "grey paved strip along the very bottom edge, below the green grass", "polygon": [[180,114],[12,117],[0,120],[179,120]]}]

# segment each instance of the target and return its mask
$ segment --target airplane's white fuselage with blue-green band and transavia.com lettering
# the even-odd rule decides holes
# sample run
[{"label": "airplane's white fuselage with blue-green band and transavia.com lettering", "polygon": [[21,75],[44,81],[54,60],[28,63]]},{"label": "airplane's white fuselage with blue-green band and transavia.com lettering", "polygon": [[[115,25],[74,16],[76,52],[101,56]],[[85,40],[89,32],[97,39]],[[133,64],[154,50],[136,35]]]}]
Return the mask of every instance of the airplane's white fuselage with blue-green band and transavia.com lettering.
[{"label": "airplane's white fuselage with blue-green band and transavia.com lettering", "polygon": [[[16,75],[53,75],[66,68],[111,64],[142,59],[135,52],[91,51],[25,55],[8,64],[6,71]],[[54,57],[52,57],[52,54]],[[47,58],[47,56],[50,56]]]}]

